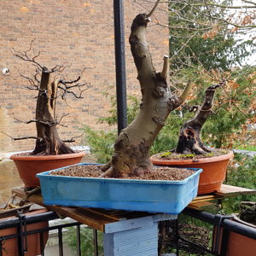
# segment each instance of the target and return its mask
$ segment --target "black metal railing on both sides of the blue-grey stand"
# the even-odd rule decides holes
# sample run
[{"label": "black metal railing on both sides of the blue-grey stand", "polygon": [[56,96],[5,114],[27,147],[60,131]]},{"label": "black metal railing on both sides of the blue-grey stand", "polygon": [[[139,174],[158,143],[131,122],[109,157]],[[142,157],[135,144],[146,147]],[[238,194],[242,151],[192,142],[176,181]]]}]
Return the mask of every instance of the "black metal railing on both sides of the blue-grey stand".
[{"label": "black metal railing on both sides of the blue-grey stand", "polygon": [[[255,240],[256,242],[256,229],[249,227],[245,224],[239,224],[235,221],[232,221],[232,217],[230,216],[223,216],[219,214],[212,214],[208,212],[200,212],[193,209],[185,209],[183,214],[188,215],[192,218],[200,219],[207,224],[212,224],[214,227],[212,237],[219,236],[219,232],[222,232],[222,238],[220,241],[216,240],[212,247],[202,247],[200,242],[189,241],[188,239],[184,239],[180,236],[180,230],[178,230],[178,223],[175,222],[176,228],[171,230],[174,246],[177,247],[176,255],[178,255],[179,248],[181,247],[181,242],[187,242],[191,247],[197,247],[204,253],[210,253],[212,255],[226,255],[227,250],[227,243],[230,232],[238,233],[242,236],[247,236]],[[16,218],[9,218],[0,220],[0,234],[2,230],[6,230],[9,228],[15,228],[13,234],[9,234],[7,236],[0,236],[0,256],[4,255],[4,243],[9,239],[16,239],[16,246],[19,253],[19,256],[26,256],[27,248],[30,244],[27,243],[27,236],[32,234],[39,234],[39,243],[40,243],[40,253],[44,255],[44,232],[48,232],[50,230],[56,230],[58,236],[58,246],[59,246],[59,255],[64,255],[63,253],[63,230],[67,229],[68,227],[76,227],[76,240],[77,240],[77,255],[81,255],[81,224],[79,222],[73,222],[68,224],[56,224],[54,226],[38,229],[38,230],[27,230],[26,226],[28,224],[34,224],[38,222],[44,222],[49,220],[54,220],[59,218],[55,212],[44,212],[38,213],[35,215],[26,216],[24,214],[18,214]],[[98,241],[97,241],[97,231],[93,230],[93,254],[94,256],[98,255]],[[8,255],[7,253],[5,253]]]}]

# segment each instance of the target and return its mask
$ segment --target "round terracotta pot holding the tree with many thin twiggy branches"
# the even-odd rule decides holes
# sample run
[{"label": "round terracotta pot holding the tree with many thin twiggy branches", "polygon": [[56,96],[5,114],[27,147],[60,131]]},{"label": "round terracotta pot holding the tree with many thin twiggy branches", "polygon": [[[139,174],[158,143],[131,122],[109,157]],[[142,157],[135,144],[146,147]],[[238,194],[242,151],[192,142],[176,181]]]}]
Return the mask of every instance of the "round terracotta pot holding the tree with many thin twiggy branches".
[{"label": "round terracotta pot holding the tree with many thin twiggy branches", "polygon": [[40,186],[39,179],[36,174],[58,169],[64,166],[72,166],[79,164],[84,152],[73,154],[57,154],[57,155],[19,155],[14,154],[10,157],[15,161],[15,165],[20,174],[20,178],[26,188]]}]

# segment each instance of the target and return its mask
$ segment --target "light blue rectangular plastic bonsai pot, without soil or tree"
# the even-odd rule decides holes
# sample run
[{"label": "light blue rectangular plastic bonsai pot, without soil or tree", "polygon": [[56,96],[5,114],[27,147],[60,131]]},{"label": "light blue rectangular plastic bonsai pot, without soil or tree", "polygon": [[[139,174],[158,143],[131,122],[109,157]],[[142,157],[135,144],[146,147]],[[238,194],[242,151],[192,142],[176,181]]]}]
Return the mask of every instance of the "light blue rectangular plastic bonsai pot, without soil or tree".
[{"label": "light blue rectangular plastic bonsai pot, without soil or tree", "polygon": [[194,170],[195,173],[182,181],[49,175],[54,170],[39,173],[37,177],[45,205],[178,214],[197,195],[202,170]]}]

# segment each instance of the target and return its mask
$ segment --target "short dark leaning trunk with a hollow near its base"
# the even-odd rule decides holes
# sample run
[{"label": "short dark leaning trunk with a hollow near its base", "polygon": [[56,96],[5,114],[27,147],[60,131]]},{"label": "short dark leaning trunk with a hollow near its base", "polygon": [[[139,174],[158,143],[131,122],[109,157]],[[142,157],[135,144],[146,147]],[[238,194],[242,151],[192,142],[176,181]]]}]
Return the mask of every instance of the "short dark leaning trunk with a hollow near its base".
[{"label": "short dark leaning trunk with a hollow near its base", "polygon": [[186,122],[180,130],[176,153],[180,154],[206,154],[212,152],[212,149],[207,148],[200,138],[201,128],[206,122],[208,116],[212,113],[212,102],[215,94],[215,90],[221,86],[220,84],[213,84],[208,87],[205,94],[203,104],[195,106],[197,111],[195,118]]}]

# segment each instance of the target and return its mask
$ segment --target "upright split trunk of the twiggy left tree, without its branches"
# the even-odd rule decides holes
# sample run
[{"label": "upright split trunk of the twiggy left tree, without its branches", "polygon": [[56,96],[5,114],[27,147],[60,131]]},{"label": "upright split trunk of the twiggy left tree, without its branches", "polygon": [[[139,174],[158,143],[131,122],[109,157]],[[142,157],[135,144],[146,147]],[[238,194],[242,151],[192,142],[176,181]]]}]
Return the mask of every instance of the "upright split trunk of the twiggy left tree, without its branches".
[{"label": "upright split trunk of the twiggy left tree, without its branches", "polygon": [[32,154],[70,154],[73,149],[63,143],[57,132],[55,119],[55,104],[57,97],[58,80],[55,74],[43,70],[38,92],[36,109],[36,125],[38,137],[36,147]]}]

